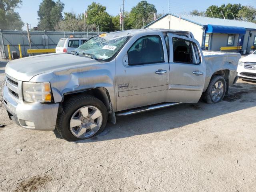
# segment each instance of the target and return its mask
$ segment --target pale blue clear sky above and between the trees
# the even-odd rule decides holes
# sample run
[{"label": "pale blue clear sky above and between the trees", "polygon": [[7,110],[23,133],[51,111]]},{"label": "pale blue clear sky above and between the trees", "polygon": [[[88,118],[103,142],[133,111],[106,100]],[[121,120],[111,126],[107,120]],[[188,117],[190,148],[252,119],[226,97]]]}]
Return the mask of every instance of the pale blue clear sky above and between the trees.
[{"label": "pale blue clear sky above and between the trees", "polygon": [[[54,0],[56,2],[56,0]],[[141,0],[125,0],[124,10],[130,11]],[[23,0],[22,6],[16,9],[20,14],[22,21],[31,24],[31,27],[37,26],[37,11],[42,0]],[[87,6],[92,2],[100,3],[106,6],[110,15],[117,15],[120,12],[123,0],[61,0],[65,4],[64,12],[83,13]],[[148,3],[154,4],[158,13],[168,13],[168,0],[147,0]],[[170,0],[170,12],[174,14],[188,14],[191,10],[206,10],[212,4],[220,6],[221,4],[241,3],[242,5],[251,5],[256,7],[256,0]],[[25,30],[26,27],[24,26]]]}]

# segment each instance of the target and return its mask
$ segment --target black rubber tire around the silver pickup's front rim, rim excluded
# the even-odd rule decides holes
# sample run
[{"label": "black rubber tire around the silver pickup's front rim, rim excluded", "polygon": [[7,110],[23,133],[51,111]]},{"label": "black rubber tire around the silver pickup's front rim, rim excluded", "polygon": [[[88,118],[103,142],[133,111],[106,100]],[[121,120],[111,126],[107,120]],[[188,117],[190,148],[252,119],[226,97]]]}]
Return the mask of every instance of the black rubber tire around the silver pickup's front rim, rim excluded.
[{"label": "black rubber tire around the silver pickup's front rim, rim excluded", "polygon": [[[102,132],[106,126],[108,120],[108,112],[106,106],[100,101],[98,98],[90,95],[79,95],[69,98],[62,104],[63,111],[60,111],[57,117],[56,129],[59,134],[67,141],[75,141],[82,140],[81,138],[77,138],[70,131],[70,119],[76,110],[80,109],[83,106],[95,106],[102,113],[102,124],[100,129],[96,134],[92,135],[96,136],[100,132]],[[86,138],[87,139],[87,138]]]}]

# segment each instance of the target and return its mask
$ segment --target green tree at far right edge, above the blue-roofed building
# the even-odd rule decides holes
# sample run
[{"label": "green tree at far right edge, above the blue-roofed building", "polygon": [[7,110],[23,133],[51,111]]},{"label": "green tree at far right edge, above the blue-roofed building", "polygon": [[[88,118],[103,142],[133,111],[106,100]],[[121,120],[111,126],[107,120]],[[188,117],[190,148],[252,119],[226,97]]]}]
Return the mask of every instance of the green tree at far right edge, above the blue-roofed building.
[{"label": "green tree at far right edge, above the blue-roofed building", "polygon": [[256,23],[256,9],[252,6],[242,6],[238,19]]}]

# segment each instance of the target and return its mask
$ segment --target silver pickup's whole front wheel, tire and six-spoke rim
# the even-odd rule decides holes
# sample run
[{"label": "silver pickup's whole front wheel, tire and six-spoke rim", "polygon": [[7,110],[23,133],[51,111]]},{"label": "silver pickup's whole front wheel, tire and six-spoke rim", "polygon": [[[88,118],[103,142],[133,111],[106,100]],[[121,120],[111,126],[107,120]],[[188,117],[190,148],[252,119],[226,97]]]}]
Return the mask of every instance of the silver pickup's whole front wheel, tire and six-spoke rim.
[{"label": "silver pickup's whole front wheel, tire and six-spoke rim", "polygon": [[56,129],[69,141],[87,139],[102,132],[106,126],[106,106],[97,98],[74,96],[63,104]]}]

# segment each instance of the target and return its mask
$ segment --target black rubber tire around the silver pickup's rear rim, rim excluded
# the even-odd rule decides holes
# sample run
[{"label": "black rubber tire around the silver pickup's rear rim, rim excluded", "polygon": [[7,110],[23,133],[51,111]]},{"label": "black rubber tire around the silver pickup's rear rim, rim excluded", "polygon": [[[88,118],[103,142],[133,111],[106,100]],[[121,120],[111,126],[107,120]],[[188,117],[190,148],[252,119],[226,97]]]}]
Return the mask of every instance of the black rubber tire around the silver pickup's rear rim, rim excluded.
[{"label": "black rubber tire around the silver pickup's rear rim, rim excluded", "polygon": [[[221,96],[220,100],[218,100],[217,102],[215,102],[213,99],[212,99],[212,88],[213,86],[216,84],[216,82],[218,81],[221,81],[223,83],[223,89],[224,89],[224,92],[223,92],[223,95]],[[206,89],[205,92],[203,92],[202,94],[202,100],[208,104],[215,104],[215,103],[219,103],[222,101],[222,99],[224,98],[225,96],[225,93],[226,93],[226,80],[222,77],[222,76],[214,76],[212,77],[209,85],[208,85],[208,88]]]}]

